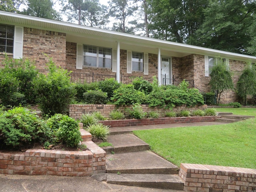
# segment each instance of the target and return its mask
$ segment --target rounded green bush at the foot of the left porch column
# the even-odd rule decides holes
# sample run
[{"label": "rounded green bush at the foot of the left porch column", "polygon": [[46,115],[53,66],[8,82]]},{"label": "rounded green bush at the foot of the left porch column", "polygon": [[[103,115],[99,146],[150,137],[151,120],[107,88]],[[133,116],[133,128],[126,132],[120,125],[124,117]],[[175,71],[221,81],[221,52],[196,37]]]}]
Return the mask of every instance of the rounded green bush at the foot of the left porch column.
[{"label": "rounded green bush at the foot of the left porch column", "polygon": [[103,92],[106,92],[108,94],[108,99],[110,99],[114,94],[114,90],[120,87],[120,83],[118,83],[114,78],[110,78],[98,82],[98,87]]}]

